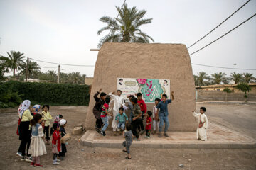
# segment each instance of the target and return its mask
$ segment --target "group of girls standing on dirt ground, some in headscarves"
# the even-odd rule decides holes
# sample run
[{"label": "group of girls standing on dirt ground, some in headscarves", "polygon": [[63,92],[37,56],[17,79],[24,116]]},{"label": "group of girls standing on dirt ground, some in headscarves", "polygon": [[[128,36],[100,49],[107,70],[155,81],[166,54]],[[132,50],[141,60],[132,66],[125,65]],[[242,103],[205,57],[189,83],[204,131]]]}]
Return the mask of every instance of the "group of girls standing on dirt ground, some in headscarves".
[{"label": "group of girls standing on dirt ground, some in headscarves", "polygon": [[28,100],[23,101],[18,108],[17,135],[19,135],[21,145],[17,155],[21,157],[21,160],[31,162],[31,166],[43,167],[40,164],[40,157],[47,153],[45,143],[50,144],[50,135],[53,135],[53,164],[60,164],[58,162],[64,160],[65,152],[67,152],[65,143],[61,140],[65,136],[67,120],[63,119],[62,115],[57,115],[50,128],[52,116],[49,109],[48,105],[31,106],[31,101]]}]

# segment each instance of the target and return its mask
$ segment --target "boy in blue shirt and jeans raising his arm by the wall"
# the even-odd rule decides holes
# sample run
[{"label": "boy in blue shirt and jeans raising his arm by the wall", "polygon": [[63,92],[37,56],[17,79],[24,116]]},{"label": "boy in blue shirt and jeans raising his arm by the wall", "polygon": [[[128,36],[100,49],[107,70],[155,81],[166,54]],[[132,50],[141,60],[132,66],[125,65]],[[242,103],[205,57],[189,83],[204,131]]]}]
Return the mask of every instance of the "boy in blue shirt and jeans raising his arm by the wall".
[{"label": "boy in blue shirt and jeans raising his arm by the wall", "polygon": [[[159,124],[159,137],[163,137],[161,134],[161,131],[163,129],[164,123],[164,136],[169,137],[169,135],[166,133],[169,127],[169,120],[168,120],[168,104],[171,103],[171,101],[174,101],[174,91],[171,91],[171,99],[167,99],[167,95],[162,95],[162,101],[158,103],[156,106],[157,112],[156,112],[156,118],[160,118],[160,124]],[[160,109],[160,112],[159,112]],[[159,117],[158,117],[159,116]]]}]

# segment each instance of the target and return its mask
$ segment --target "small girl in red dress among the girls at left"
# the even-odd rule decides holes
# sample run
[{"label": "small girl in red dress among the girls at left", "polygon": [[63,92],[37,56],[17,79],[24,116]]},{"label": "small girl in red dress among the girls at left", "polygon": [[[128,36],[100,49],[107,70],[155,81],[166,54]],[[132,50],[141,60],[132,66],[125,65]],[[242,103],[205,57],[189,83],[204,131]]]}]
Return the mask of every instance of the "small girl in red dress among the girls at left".
[{"label": "small girl in red dress among the girls at left", "polygon": [[60,124],[59,123],[53,123],[53,139],[52,139],[52,152],[53,152],[53,164],[58,165],[57,161],[60,161],[57,159],[57,156],[60,152]]}]

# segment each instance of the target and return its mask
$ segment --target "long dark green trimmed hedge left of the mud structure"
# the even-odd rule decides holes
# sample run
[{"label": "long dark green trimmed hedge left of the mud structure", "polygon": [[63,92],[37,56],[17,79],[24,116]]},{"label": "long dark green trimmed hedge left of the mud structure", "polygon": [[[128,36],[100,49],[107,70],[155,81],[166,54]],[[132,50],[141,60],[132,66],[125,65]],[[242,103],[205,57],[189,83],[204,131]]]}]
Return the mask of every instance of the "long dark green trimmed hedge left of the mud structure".
[{"label": "long dark green trimmed hedge left of the mud structure", "polygon": [[[31,103],[87,106],[90,100],[87,85],[8,81],[0,83],[0,86],[1,97],[3,91],[10,91],[9,93],[21,94],[22,100],[28,99]],[[19,103],[21,101],[16,104]]]}]

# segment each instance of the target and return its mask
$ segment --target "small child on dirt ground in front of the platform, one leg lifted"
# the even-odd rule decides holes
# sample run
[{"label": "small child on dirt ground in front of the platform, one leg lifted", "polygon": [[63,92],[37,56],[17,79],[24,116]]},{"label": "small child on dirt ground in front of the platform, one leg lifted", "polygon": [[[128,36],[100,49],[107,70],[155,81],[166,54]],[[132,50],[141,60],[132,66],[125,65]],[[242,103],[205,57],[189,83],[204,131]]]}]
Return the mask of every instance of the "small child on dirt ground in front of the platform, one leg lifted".
[{"label": "small child on dirt ground in front of the platform, one leg lifted", "polygon": [[123,135],[125,137],[125,141],[122,143],[122,145],[124,146],[124,149],[122,150],[123,152],[127,152],[127,157],[125,157],[125,159],[132,159],[131,154],[130,154],[130,150],[129,148],[132,145],[132,140],[133,140],[133,135],[132,135],[132,127],[130,124],[127,124],[125,126],[126,128],[126,132],[123,132]]}]

